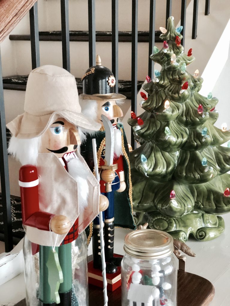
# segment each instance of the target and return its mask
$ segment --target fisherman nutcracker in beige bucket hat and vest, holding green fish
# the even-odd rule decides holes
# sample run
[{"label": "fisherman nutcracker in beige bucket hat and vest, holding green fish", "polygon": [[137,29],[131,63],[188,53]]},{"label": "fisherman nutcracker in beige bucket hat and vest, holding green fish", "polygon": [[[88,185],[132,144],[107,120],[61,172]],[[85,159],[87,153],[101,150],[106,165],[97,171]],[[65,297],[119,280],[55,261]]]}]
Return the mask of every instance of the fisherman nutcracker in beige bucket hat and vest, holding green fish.
[{"label": "fisherman nutcracker in beige bucket hat and vest, holding green fish", "polygon": [[[76,149],[82,128],[98,130],[101,124],[81,113],[75,77],[52,65],[29,74],[24,110],[7,127],[13,135],[9,152],[22,164],[23,226],[33,254],[39,250],[39,300],[70,306],[71,242],[98,215],[100,195]],[[73,304],[79,305],[76,299]]]}]

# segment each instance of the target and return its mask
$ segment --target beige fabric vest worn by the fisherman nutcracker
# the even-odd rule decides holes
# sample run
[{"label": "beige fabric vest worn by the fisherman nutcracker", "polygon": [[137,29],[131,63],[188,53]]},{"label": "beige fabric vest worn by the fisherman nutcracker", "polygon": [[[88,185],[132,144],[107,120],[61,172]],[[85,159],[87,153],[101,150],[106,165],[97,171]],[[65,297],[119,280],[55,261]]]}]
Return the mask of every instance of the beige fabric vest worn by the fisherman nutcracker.
[{"label": "beige fabric vest worn by the fisherman nutcracker", "polygon": [[[85,177],[89,187],[87,207],[79,214],[79,192],[82,194],[84,190],[78,190],[78,178],[71,177],[55,154],[39,153],[37,160],[39,209],[54,215],[66,216],[71,221],[71,227],[79,218],[78,232],[81,233],[99,214],[100,185],[80,153],[76,151],[75,154],[84,171],[87,171]],[[82,177],[80,179],[82,180]],[[54,244],[59,246],[66,236],[32,226],[26,226],[25,229],[26,236],[31,242],[45,246],[54,246]]]}]

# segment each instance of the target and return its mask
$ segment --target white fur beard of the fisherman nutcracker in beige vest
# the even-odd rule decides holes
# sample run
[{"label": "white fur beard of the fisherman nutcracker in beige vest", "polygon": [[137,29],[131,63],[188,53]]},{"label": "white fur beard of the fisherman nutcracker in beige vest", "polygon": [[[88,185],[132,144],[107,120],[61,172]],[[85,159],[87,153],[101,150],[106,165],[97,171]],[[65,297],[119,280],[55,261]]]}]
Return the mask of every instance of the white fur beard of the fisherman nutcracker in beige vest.
[{"label": "white fur beard of the fisherman nutcracker in beige vest", "polygon": [[89,186],[86,179],[88,171],[78,157],[71,159],[67,163],[67,167],[68,173],[78,183],[79,212],[82,213],[88,205]]}]

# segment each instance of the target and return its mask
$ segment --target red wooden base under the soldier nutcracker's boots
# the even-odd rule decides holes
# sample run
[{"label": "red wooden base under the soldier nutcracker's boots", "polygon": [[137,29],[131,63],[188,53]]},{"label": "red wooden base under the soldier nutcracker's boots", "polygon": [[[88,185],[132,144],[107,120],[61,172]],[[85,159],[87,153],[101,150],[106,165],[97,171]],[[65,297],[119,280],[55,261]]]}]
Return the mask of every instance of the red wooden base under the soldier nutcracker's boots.
[{"label": "red wooden base under the soldier nutcracker's boots", "polygon": [[[114,254],[114,257],[123,257]],[[106,274],[107,290],[114,291],[121,286],[121,267],[117,267],[117,272],[113,274]],[[89,284],[103,288],[102,271],[94,269],[93,260],[88,263],[88,280]]]}]

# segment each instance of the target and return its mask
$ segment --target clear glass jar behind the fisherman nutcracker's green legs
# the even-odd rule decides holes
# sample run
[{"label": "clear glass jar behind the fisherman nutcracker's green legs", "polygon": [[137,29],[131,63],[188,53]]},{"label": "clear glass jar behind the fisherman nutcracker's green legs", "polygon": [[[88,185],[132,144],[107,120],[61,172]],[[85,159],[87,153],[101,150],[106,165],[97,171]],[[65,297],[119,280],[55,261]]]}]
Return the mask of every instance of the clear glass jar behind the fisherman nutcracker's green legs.
[{"label": "clear glass jar behind the fisherman nutcracker's green legs", "polygon": [[[27,239],[25,235],[23,244],[23,254],[26,285],[26,306],[40,306],[40,254],[39,252],[37,252],[35,255],[32,255],[32,245],[33,244]],[[66,245],[68,246],[68,244]],[[71,267],[70,278],[72,278],[72,281],[70,279],[70,287],[72,287],[71,306],[88,306],[88,248],[85,231],[79,234],[76,240],[71,242],[70,247],[71,259],[69,260],[69,266]],[[65,278],[65,275],[63,275],[63,278]],[[45,286],[47,285],[48,284],[45,284]],[[50,305],[52,305],[52,303],[50,303]],[[54,303],[54,305],[56,304]]]}]

